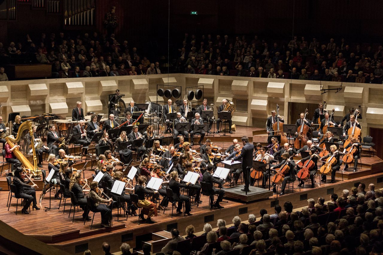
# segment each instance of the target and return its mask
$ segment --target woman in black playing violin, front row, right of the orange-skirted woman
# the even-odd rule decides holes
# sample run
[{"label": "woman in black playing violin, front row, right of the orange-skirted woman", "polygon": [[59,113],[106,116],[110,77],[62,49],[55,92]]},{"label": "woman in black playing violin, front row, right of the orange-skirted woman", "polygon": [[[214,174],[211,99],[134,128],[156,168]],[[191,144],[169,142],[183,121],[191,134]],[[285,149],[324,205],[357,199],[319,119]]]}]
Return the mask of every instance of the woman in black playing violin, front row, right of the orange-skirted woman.
[{"label": "woman in black playing violin, front row, right of the orange-skirted woman", "polygon": [[190,213],[191,207],[190,207],[190,199],[189,197],[186,197],[184,195],[180,194],[180,188],[188,188],[188,185],[190,185],[190,182],[187,182],[186,184],[180,183],[181,179],[178,178],[178,172],[173,171],[170,173],[170,181],[169,181],[169,188],[173,191],[173,199],[175,201],[178,201],[177,206],[177,213],[180,214],[182,210],[182,203],[185,202],[185,214],[188,216],[193,215]]}]

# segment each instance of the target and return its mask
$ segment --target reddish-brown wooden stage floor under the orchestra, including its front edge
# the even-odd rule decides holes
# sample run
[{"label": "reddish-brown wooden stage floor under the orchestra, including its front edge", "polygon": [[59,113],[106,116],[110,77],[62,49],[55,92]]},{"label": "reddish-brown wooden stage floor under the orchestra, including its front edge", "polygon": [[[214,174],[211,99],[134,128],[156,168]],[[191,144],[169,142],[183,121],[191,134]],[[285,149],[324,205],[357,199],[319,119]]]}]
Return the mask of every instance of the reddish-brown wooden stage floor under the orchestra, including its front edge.
[{"label": "reddish-brown wooden stage floor under the orchestra, including its front edge", "polygon": [[[237,132],[229,137],[212,137],[211,140],[218,146],[227,148],[232,144],[231,140],[234,138],[240,139],[241,136],[247,135],[252,137],[252,131],[256,128],[251,127],[238,127]],[[261,129],[257,129],[261,130]],[[257,142],[254,140],[253,142]],[[198,149],[199,146],[194,146],[195,149]],[[78,168],[81,168],[83,163],[78,164]],[[90,164],[88,164],[90,165]],[[46,162],[44,162],[43,169],[46,169]],[[340,172],[336,175],[336,183],[330,184],[329,178],[326,184],[319,182],[319,176],[315,177],[315,188],[311,187],[311,184],[305,183],[304,188],[298,188],[298,182],[294,182],[294,189],[292,185],[286,187],[286,195],[278,196],[271,195],[270,197],[263,198],[257,201],[250,201],[249,203],[236,200],[235,198],[224,198],[224,202],[221,203],[225,208],[221,210],[209,210],[208,206],[208,197],[202,196],[201,200],[203,203],[196,207],[192,206],[191,213],[193,216],[180,216],[174,215],[171,217],[172,209],[167,208],[165,213],[163,211],[158,212],[158,216],[152,218],[155,221],[155,224],[146,224],[142,223],[138,225],[138,217],[129,216],[128,220],[124,218],[123,214],[119,215],[119,220],[117,221],[117,210],[113,210],[113,226],[110,229],[106,229],[100,226],[100,214],[96,213],[93,227],[90,229],[91,221],[87,221],[84,225],[82,221],[82,211],[75,213],[74,223],[72,223],[72,214],[69,218],[69,208],[70,208],[70,199],[67,200],[64,211],[64,201],[61,203],[60,209],[51,209],[44,211],[43,208],[39,211],[33,210],[30,214],[25,215],[21,214],[20,204],[18,207],[18,213],[16,211],[16,199],[12,199],[10,209],[7,208],[7,184],[5,180],[4,173],[0,177],[0,185],[3,187],[3,190],[0,192],[0,220],[7,223],[11,227],[20,231],[23,234],[32,236],[38,240],[41,240],[47,244],[54,245],[55,247],[65,250],[72,254],[82,254],[85,247],[100,247],[101,243],[106,241],[109,242],[112,246],[111,252],[117,252],[118,247],[121,242],[127,242],[129,245],[134,247],[139,247],[143,241],[151,240],[151,233],[161,230],[170,230],[173,227],[176,227],[180,230],[181,234],[185,234],[185,227],[189,224],[193,224],[196,228],[196,232],[203,229],[205,223],[210,223],[213,227],[216,226],[216,220],[219,218],[225,219],[228,224],[231,222],[231,219],[239,215],[243,220],[247,219],[247,215],[254,213],[257,218],[259,218],[259,210],[265,208],[273,212],[273,206],[275,203],[283,205],[285,201],[291,201],[296,208],[307,205],[306,200],[308,198],[318,198],[319,196],[327,198],[331,193],[338,193],[343,189],[350,189],[352,186],[358,185],[359,182],[364,182],[366,185],[370,183],[375,183],[376,188],[383,187],[383,171],[382,171],[382,160],[375,157],[362,157],[362,167],[363,169],[358,169],[357,173],[344,172],[342,181]],[[349,169],[352,169],[350,166]],[[93,169],[89,167],[85,171],[85,178],[90,178],[93,173]],[[347,177],[347,178],[346,178]],[[241,180],[241,179],[240,179]],[[39,187],[41,187],[41,181],[36,182]],[[228,187],[228,184],[225,184],[224,187]],[[39,199],[41,191],[36,192],[36,197]],[[54,192],[51,193],[51,207],[57,208],[60,200],[54,199]],[[227,203],[226,203],[227,201]],[[42,200],[42,206],[49,206],[49,193],[44,196]],[[73,213],[73,211],[72,211]],[[93,214],[90,213],[92,217]],[[87,248],[88,249],[88,248]],[[79,252],[81,251],[82,252]],[[86,249],[85,249],[86,250]],[[92,250],[92,249],[91,249]],[[78,251],[78,253],[75,253]],[[93,254],[93,250],[92,250]],[[100,254],[100,253],[95,253]]]}]

